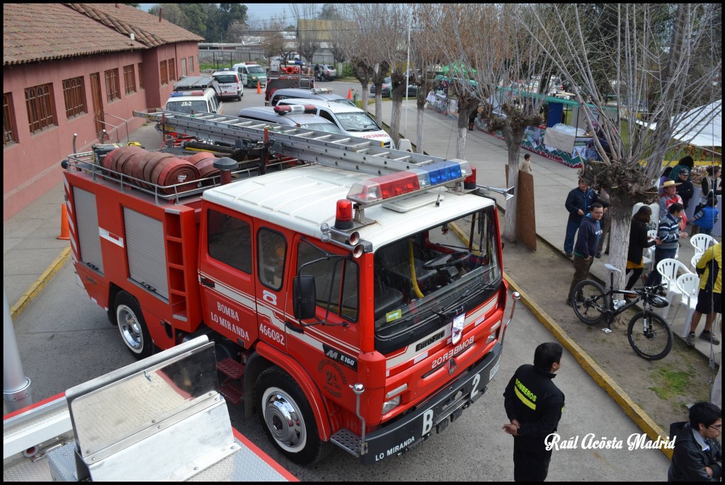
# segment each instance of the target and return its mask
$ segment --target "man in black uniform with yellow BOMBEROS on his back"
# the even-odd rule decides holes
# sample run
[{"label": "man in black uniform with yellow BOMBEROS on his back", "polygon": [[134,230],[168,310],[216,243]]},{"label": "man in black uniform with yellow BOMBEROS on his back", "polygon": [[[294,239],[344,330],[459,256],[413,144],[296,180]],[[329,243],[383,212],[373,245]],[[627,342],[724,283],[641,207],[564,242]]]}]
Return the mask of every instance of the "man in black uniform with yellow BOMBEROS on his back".
[{"label": "man in black uniform with yellow BOMBEROS on his back", "polygon": [[556,431],[564,408],[564,393],[552,382],[561,367],[563,348],[545,342],[534,352],[534,365],[516,369],[503,393],[511,421],[503,430],[513,435],[513,479],[544,481],[552,451],[544,438]]}]

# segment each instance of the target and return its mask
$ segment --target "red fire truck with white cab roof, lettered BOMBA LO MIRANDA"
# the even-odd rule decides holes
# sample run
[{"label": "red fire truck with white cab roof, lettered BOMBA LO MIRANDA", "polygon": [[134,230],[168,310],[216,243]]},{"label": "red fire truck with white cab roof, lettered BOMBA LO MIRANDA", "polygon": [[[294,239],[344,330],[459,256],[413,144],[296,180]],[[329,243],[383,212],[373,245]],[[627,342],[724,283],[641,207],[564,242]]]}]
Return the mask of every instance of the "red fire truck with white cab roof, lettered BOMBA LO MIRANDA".
[{"label": "red fire truck with white cab roof, lettered BOMBA LO MIRANDA", "polygon": [[120,158],[105,168],[98,150],[64,161],[78,281],[133,355],[206,335],[220,393],[299,464],[329,443],[362,463],[399,455],[484,394],[513,305],[505,321],[500,189],[476,185],[468,162],[217,114],[135,115],[247,156],[166,186]]}]

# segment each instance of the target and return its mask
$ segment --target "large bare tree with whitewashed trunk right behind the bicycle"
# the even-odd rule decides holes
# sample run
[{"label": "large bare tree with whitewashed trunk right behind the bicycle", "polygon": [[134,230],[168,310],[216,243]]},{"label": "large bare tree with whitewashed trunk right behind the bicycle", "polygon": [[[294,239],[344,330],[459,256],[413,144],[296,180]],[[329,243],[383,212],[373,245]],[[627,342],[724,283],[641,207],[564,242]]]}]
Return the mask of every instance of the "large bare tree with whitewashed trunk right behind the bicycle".
[{"label": "large bare tree with whitewashed trunk right behind the bicycle", "polygon": [[[610,35],[588,36],[587,29],[605,14],[614,19]],[[536,5],[519,18],[571,84],[589,130],[599,134],[594,141],[602,162],[587,161],[583,176],[610,194],[610,261],[624,268],[634,204],[655,200],[663,158],[677,144],[673,133],[692,129],[689,119],[695,117],[688,116],[688,109],[711,96],[712,84],[721,76],[719,48],[710,62],[692,65],[693,54],[712,48],[719,38],[721,5],[600,4],[598,10],[579,4]],[[609,75],[614,116],[607,115],[610,106],[597,84],[598,72]],[[638,119],[647,99],[655,104]],[[686,99],[698,102],[690,106]],[[717,114],[712,109],[701,113],[706,119]],[[691,138],[695,135],[696,129],[690,132]],[[624,272],[617,287],[623,281]]]}]

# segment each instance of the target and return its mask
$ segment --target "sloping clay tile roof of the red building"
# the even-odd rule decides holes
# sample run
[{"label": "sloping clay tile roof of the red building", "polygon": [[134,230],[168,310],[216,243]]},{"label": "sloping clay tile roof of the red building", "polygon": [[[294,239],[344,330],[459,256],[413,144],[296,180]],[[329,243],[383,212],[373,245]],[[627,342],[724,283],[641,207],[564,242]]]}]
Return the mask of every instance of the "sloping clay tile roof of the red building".
[{"label": "sloping clay tile roof of the red building", "polygon": [[124,4],[3,4],[6,66],[203,40]]}]

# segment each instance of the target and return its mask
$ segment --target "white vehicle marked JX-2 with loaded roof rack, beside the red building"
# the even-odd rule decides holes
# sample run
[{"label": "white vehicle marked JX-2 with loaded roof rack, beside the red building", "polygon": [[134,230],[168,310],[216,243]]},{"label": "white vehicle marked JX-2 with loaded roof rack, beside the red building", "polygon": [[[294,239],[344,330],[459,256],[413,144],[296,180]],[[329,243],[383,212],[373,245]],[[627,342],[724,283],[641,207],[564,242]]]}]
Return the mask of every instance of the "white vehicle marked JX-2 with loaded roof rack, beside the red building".
[{"label": "white vehicle marked JX-2 with loaded roof rack, beside the red building", "polygon": [[174,85],[164,109],[177,113],[223,114],[224,106],[219,99],[219,83],[208,76],[186,77]]}]

